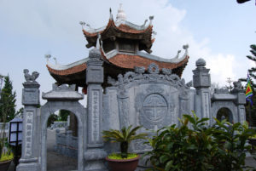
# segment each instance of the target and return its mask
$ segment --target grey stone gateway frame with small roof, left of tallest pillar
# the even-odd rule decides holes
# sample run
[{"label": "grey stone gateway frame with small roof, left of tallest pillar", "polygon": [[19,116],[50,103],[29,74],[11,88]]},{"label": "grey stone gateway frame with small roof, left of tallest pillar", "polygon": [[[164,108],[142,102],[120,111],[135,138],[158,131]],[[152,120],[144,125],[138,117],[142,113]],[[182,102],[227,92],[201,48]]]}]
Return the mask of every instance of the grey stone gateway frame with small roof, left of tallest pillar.
[{"label": "grey stone gateway frame with small roof, left of tallest pillar", "polygon": [[[53,85],[52,91],[49,91],[46,94],[43,93],[43,99],[47,100],[47,103],[41,107],[41,118],[39,123],[39,133],[41,137],[41,151],[39,154],[41,157],[41,170],[47,171],[47,122],[49,120],[49,116],[59,110],[70,111],[70,113],[72,113],[70,117],[73,117],[73,123],[76,124],[76,128],[73,127],[73,133],[77,135],[77,170],[84,170],[83,152],[85,151],[85,139],[83,139],[83,137],[86,132],[86,125],[84,124],[86,123],[86,109],[79,103],[79,100],[84,99],[84,95],[75,91],[73,86],[67,87],[66,85],[61,85],[60,87],[57,87]],[[73,137],[73,135],[70,134],[71,130],[65,131],[69,134],[69,138]],[[63,143],[63,140],[61,141],[61,143]],[[72,147],[72,145],[69,145],[69,147],[70,146]],[[61,146],[57,147],[62,148]],[[69,150],[71,151],[72,149],[67,148],[67,151]]]}]

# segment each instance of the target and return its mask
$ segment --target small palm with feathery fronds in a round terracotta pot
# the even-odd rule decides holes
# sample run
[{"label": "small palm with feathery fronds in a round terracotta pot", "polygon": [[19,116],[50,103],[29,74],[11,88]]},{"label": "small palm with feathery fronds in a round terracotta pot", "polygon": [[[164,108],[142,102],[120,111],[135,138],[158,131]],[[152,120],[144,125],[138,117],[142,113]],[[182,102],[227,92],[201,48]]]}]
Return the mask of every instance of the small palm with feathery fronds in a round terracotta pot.
[{"label": "small palm with feathery fronds in a round terracotta pot", "polygon": [[120,143],[120,153],[113,153],[106,157],[108,166],[112,171],[134,171],[137,168],[137,163],[140,158],[139,155],[134,153],[128,153],[128,148],[132,140],[146,139],[148,134],[136,134],[136,128],[121,128],[121,131],[117,129],[104,130],[102,132],[103,139],[112,143]]}]

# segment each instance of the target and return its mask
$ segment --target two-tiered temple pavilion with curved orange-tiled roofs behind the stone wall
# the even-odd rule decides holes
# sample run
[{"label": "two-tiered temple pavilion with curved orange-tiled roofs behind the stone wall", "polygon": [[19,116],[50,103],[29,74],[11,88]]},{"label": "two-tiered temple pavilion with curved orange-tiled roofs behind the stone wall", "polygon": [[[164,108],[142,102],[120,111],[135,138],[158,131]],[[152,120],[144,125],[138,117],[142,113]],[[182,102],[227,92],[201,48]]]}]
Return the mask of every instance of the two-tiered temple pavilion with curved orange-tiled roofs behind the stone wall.
[{"label": "two-tiered temple pavilion with curved orange-tiled roofs behind the stone wall", "polygon": [[[184,45],[185,53],[179,57],[180,50],[172,59],[164,59],[153,55],[151,47],[154,43],[153,16],[149,16],[143,25],[137,26],[126,20],[125,11],[120,5],[116,20],[110,9],[110,17],[107,26],[93,29],[89,25],[80,22],[83,26],[84,37],[87,40],[86,48],[99,48],[102,54],[104,68],[103,88],[108,87],[108,76],[117,78],[119,74],[134,71],[135,66],[143,66],[146,70],[149,64],[155,63],[162,68],[172,70],[172,73],[181,77],[185,66],[189,61],[188,45]],[[89,58],[73,62],[69,65],[53,65],[48,62],[47,68],[58,84],[76,84],[82,87],[86,94],[86,62]]]}]

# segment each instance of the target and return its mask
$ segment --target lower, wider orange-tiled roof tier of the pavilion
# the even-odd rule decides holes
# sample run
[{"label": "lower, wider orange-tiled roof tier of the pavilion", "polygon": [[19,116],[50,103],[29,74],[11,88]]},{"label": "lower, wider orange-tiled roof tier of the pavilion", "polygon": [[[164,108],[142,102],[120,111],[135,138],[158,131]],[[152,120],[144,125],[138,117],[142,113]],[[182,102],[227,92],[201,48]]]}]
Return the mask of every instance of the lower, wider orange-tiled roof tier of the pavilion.
[{"label": "lower, wider orange-tiled roof tier of the pavilion", "polygon": [[[152,54],[137,52],[137,54],[120,53],[115,50],[105,54],[102,48],[102,60],[104,61],[104,72],[107,77],[108,73],[118,74],[119,71],[133,71],[135,66],[143,66],[148,69],[149,64],[155,63],[160,69],[171,69],[172,73],[176,73],[179,77],[182,76],[183,69],[189,61],[188,48],[185,48],[185,53],[182,57],[175,56],[172,59],[162,59]],[[77,83],[83,87],[85,84],[86,62],[89,58],[79,60],[70,65],[62,66],[60,64],[53,65],[48,62],[47,68],[49,73],[58,83]],[[113,71],[119,69],[119,71]],[[114,77],[114,76],[112,76]]]}]

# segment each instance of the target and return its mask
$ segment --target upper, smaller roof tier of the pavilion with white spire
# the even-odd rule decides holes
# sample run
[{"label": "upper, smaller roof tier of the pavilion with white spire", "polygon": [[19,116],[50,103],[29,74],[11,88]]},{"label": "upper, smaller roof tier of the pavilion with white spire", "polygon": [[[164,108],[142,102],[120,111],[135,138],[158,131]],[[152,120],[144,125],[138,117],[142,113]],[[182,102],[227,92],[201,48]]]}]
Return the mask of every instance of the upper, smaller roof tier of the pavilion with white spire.
[{"label": "upper, smaller roof tier of the pavilion with white spire", "polygon": [[154,43],[154,38],[152,38],[152,33],[154,33],[152,26],[153,19],[154,17],[150,16],[150,22],[148,25],[146,25],[148,20],[145,20],[142,26],[137,26],[126,20],[125,12],[120,7],[119,13],[117,14],[117,19],[115,21],[113,20],[113,15],[110,12],[107,26],[93,29],[87,24],[86,26],[88,26],[89,29],[83,28],[84,37],[88,42],[86,47],[96,47],[98,35],[101,35],[102,41],[108,38],[115,39],[116,37],[137,40],[140,43],[140,50],[145,50],[149,53],[151,52],[150,48]]}]

